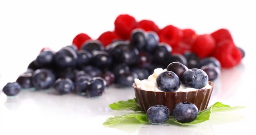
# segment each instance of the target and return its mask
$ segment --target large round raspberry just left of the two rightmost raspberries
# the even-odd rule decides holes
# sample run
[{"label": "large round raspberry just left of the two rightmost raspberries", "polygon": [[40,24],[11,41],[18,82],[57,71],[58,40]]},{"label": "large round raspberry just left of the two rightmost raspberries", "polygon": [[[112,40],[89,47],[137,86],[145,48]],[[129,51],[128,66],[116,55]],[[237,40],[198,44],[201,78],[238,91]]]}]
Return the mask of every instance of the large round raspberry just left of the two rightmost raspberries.
[{"label": "large round raspberry just left of the two rightmost raspberries", "polygon": [[216,43],[211,35],[199,35],[192,46],[192,51],[200,58],[209,56],[216,48]]}]

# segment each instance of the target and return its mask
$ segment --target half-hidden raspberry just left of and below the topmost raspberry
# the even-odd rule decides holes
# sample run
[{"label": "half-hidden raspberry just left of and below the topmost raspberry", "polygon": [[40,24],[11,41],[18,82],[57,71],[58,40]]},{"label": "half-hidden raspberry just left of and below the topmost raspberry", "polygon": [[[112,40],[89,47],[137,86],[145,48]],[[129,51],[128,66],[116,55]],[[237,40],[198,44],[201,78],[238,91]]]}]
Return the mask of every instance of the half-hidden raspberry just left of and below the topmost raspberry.
[{"label": "half-hidden raspberry just left of and below the topmost raspberry", "polygon": [[117,33],[112,31],[107,31],[105,33],[102,33],[98,38],[98,40],[101,41],[103,46],[107,46],[115,39],[120,39],[120,37],[119,35],[117,35]]}]

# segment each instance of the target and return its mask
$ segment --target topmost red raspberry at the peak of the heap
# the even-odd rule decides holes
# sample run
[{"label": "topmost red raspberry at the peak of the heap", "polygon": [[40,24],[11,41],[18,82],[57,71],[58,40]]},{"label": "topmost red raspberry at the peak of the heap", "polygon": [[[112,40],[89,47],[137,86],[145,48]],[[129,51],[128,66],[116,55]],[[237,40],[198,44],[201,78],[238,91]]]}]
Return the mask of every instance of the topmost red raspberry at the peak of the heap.
[{"label": "topmost red raspberry at the peak of the heap", "polygon": [[119,15],[115,20],[115,32],[124,39],[129,39],[130,32],[137,27],[137,22],[130,15]]}]

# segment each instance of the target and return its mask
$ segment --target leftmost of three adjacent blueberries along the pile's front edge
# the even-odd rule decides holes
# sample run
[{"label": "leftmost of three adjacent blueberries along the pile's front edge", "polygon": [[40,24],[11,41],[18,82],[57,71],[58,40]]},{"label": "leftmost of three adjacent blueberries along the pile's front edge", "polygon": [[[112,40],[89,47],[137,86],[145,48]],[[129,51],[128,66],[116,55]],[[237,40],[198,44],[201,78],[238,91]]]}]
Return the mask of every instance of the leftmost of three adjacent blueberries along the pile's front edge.
[{"label": "leftmost of three adjacent blueberries along the pile's front edge", "polygon": [[68,94],[74,90],[74,83],[69,78],[58,78],[54,83],[54,88],[58,94]]}]

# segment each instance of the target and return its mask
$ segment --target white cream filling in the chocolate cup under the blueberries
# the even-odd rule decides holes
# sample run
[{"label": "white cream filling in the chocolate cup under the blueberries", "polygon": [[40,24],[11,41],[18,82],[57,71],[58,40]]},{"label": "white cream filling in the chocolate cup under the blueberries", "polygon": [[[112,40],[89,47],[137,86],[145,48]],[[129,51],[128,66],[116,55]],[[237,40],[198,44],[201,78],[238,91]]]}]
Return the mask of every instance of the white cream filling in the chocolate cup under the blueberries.
[{"label": "white cream filling in the chocolate cup under the blueberries", "polygon": [[[157,88],[157,76],[159,74],[161,74],[162,72],[166,71],[166,69],[162,69],[162,68],[156,68],[154,70],[154,73],[151,74],[150,76],[148,76],[148,79],[147,80],[139,80],[137,78],[134,79],[134,82],[136,84],[136,86],[139,88],[139,89],[143,89],[143,90],[146,90],[146,91],[161,91],[160,89]],[[206,86],[204,86],[203,88],[201,89],[210,89],[211,88],[211,85],[209,85],[209,83],[207,83]],[[184,85],[180,85],[180,88],[175,91],[175,92],[188,92],[188,91],[197,91],[198,89],[194,89],[194,88],[190,88],[190,87],[185,87]],[[163,92],[163,91],[161,91]]]}]

